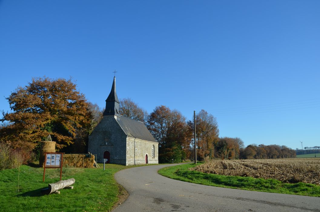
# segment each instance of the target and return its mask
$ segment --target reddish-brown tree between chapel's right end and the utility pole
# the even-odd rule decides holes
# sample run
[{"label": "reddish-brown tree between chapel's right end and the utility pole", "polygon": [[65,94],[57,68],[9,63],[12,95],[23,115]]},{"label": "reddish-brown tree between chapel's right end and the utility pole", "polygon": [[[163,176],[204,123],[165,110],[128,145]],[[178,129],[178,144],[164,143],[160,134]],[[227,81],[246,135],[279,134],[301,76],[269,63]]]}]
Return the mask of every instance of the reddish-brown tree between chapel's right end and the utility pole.
[{"label": "reddish-brown tree between chapel's right end and the utility pole", "polygon": [[159,142],[159,162],[181,162],[189,155],[190,131],[186,118],[178,110],[156,107],[150,113],[147,127]]}]

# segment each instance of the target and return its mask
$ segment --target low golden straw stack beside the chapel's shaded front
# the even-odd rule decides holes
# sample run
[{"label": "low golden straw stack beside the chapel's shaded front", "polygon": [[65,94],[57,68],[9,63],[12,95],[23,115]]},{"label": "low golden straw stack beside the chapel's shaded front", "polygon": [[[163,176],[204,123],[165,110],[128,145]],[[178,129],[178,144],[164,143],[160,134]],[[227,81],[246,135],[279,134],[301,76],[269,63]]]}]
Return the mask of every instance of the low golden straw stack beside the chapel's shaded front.
[{"label": "low golden straw stack beside the chapel's shaded front", "polygon": [[63,166],[78,168],[93,168],[94,155],[85,154],[64,154]]}]

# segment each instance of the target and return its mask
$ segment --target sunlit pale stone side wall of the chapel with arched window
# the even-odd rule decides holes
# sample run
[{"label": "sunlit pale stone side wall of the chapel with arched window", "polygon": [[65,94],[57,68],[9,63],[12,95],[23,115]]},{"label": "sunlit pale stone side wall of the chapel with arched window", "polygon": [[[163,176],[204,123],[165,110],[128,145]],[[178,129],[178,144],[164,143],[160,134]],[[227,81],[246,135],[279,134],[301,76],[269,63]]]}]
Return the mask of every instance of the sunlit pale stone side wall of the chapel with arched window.
[{"label": "sunlit pale stone side wall of the chapel with arched window", "polygon": [[[152,145],[154,145],[154,157],[152,157]],[[146,154],[148,155],[148,164],[157,164],[158,161],[158,143],[145,141],[137,138],[127,137],[127,159],[126,165],[146,164]]]}]

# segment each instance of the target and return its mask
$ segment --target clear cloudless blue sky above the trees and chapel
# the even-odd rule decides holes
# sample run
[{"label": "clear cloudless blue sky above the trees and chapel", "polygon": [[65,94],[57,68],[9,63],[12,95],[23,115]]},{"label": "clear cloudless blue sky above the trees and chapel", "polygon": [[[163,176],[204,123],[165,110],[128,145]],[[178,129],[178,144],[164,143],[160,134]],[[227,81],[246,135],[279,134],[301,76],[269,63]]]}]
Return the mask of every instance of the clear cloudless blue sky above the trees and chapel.
[{"label": "clear cloudless blue sky above the trees and chapel", "polygon": [[320,146],[320,1],[0,0],[0,109],[32,77],[217,118],[245,145]]}]

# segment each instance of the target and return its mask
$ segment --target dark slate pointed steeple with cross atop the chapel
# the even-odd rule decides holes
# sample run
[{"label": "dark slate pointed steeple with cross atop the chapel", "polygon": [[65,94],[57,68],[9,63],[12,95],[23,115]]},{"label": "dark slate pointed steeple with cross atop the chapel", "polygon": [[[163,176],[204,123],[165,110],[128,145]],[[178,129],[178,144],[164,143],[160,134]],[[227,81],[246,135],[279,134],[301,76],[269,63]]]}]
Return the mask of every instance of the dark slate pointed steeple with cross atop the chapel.
[{"label": "dark slate pointed steeple with cross atop the chapel", "polygon": [[106,99],[106,109],[103,112],[104,116],[116,115],[119,116],[119,100],[116,93],[116,77],[113,78],[110,94]]}]

